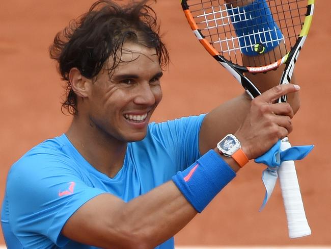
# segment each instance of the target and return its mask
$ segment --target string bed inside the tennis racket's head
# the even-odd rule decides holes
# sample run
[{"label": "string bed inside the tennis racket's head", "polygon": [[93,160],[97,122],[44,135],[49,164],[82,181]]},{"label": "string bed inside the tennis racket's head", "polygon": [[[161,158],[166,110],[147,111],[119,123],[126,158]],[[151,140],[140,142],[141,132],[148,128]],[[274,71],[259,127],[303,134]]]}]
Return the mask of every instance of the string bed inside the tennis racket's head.
[{"label": "string bed inside the tennis racket's head", "polygon": [[[242,0],[237,1],[242,3]],[[242,64],[242,51],[245,49],[253,49],[254,44],[258,43],[257,37],[261,40],[264,38],[268,45],[273,43],[283,43],[285,49],[278,46],[279,53],[273,49],[273,56],[270,53],[265,53],[262,56],[250,58],[251,66],[263,66],[270,64],[280,59],[276,54],[284,56],[291,47],[295,44],[298,35],[302,29],[302,19],[307,11],[307,0],[267,0],[268,7],[271,11],[272,18],[277,23],[278,29],[281,30],[282,36],[278,35],[270,39],[271,32],[278,34],[275,27],[258,30],[257,32],[237,35],[234,29],[236,22],[252,20],[250,12],[240,11],[236,4],[232,5],[224,3],[221,0],[187,0],[189,9],[194,16],[194,19],[205,38],[212,46],[224,56],[226,59],[235,64]],[[259,10],[262,19],[266,19],[268,14],[266,11]],[[250,22],[247,22],[250,23]],[[261,23],[265,27],[269,26],[268,22]],[[254,24],[244,27],[253,30]],[[266,39],[269,37],[269,39]],[[247,43],[247,38],[250,42]],[[244,44],[239,42],[243,40]]]}]

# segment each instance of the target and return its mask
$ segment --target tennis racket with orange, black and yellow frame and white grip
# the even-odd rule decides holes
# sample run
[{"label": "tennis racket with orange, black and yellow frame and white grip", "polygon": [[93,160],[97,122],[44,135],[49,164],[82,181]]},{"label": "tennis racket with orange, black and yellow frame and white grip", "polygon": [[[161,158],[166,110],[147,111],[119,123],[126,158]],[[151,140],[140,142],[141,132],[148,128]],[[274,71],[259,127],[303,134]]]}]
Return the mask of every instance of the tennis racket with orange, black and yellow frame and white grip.
[{"label": "tennis racket with orange, black and yellow frame and white grip", "polygon": [[[250,2],[238,0],[229,4],[223,0],[181,0],[181,5],[200,43],[254,98],[261,92],[246,77],[248,72],[265,73],[284,64],[280,84],[290,82],[295,62],[311,26],[314,0]],[[247,3],[251,4],[251,8],[237,6]],[[243,54],[248,56],[243,57]],[[279,102],[286,101],[286,95],[279,99]],[[287,138],[282,140],[281,150],[290,146]],[[279,179],[289,237],[310,235],[294,161],[281,164]]]}]

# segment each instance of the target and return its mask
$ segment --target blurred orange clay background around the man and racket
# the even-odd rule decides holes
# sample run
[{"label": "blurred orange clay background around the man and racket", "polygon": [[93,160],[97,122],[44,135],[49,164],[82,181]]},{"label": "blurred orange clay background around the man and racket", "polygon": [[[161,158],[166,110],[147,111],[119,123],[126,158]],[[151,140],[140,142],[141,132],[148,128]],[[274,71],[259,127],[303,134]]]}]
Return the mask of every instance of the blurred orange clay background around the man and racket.
[{"label": "blurred orange clay background around the man and racket", "polygon": [[[0,201],[11,164],[34,145],[69,127],[71,116],[61,113],[64,84],[47,49],[54,35],[93,2],[0,2]],[[301,108],[290,135],[293,145],[315,144],[312,153],[296,163],[312,235],[288,238],[279,185],[265,209],[258,212],[265,191],[264,167],[250,162],[176,235],[177,245],[331,245],[331,2],[316,2],[311,32],[295,67]],[[153,8],[171,55],[162,78],[163,101],[154,121],[206,113],[242,93],[241,86],[191,33],[178,0],[159,0]],[[0,244],[4,244],[1,230]]]}]

